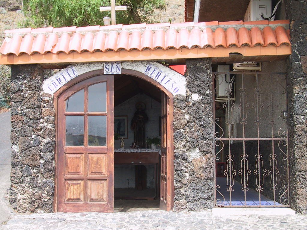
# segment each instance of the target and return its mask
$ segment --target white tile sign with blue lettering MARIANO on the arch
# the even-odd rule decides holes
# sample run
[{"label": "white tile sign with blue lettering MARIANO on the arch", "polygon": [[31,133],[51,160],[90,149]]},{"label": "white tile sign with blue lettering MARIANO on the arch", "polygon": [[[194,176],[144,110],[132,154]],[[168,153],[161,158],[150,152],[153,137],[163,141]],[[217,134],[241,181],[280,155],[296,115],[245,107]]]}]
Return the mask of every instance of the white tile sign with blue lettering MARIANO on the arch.
[{"label": "white tile sign with blue lettering MARIANO on the arch", "polygon": [[159,82],[172,94],[176,94],[179,90],[181,91],[182,86],[178,82],[175,82],[169,75],[166,75],[166,73],[150,63],[147,64],[143,73]]}]

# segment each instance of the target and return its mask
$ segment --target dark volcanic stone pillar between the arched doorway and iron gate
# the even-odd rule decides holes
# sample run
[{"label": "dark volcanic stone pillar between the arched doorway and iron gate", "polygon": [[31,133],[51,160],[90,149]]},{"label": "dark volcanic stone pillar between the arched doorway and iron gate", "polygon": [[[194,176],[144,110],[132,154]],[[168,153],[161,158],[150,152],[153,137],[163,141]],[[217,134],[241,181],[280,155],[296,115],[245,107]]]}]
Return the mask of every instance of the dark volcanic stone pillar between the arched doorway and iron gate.
[{"label": "dark volcanic stone pillar between the arched doorway and iron gate", "polygon": [[174,96],[174,211],[212,208],[214,160],[212,69],[209,59],[186,61],[186,95]]}]

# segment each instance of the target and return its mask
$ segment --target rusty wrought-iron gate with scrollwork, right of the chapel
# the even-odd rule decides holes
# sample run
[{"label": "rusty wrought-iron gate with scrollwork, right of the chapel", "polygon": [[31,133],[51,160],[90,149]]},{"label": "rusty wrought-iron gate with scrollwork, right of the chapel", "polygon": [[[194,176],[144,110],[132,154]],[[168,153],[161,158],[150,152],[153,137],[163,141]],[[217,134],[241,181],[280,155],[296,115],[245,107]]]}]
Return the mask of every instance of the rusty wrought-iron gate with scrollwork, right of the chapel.
[{"label": "rusty wrought-iron gate with scrollwork, right of the chapel", "polygon": [[213,73],[216,206],[289,206],[286,73]]}]

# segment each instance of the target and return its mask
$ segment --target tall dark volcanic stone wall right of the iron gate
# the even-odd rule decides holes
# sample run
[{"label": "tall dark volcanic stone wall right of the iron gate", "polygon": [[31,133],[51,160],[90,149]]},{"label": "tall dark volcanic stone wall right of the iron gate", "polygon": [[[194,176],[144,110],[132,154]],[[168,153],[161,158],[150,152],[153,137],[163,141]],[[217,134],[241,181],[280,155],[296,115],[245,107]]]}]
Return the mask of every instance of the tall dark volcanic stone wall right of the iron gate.
[{"label": "tall dark volcanic stone wall right of the iron gate", "polygon": [[307,2],[286,1],[292,55],[288,59],[290,205],[307,214]]}]

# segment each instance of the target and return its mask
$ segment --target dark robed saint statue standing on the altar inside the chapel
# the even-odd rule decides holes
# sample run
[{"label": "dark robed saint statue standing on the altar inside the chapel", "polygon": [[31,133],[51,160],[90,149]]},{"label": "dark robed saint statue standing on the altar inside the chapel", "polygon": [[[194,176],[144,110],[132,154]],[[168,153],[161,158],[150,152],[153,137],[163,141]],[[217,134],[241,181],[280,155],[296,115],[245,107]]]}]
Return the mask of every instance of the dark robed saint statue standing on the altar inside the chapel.
[{"label": "dark robed saint statue standing on the altar inside the chapel", "polygon": [[136,111],[131,121],[131,129],[134,130],[134,143],[139,148],[145,148],[145,123],[148,121],[148,117],[145,111],[145,104],[138,102],[135,105]]}]

